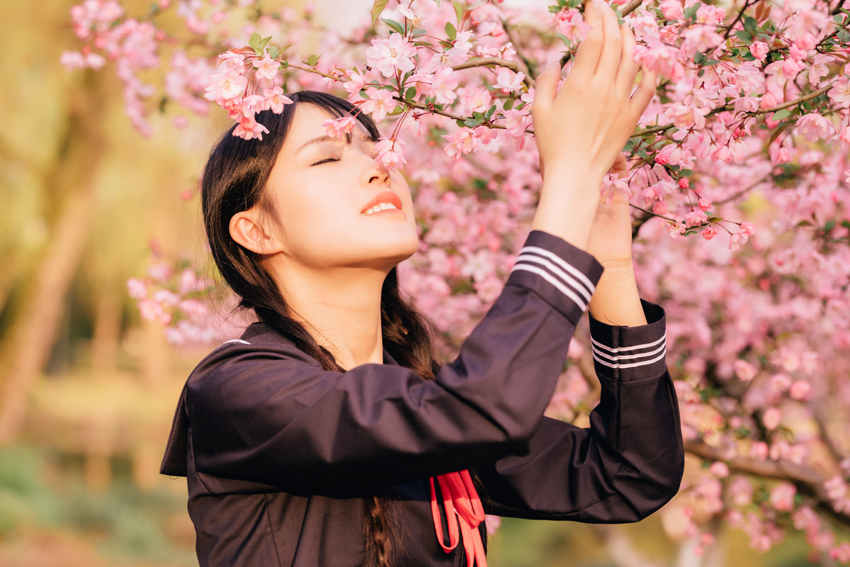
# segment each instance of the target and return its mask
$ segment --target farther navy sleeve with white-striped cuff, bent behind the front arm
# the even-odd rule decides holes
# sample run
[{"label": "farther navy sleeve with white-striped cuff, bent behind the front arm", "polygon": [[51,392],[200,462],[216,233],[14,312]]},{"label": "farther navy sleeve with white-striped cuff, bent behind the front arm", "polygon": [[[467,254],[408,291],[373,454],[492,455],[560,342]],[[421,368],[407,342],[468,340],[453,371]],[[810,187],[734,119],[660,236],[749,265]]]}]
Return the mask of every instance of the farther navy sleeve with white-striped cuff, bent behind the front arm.
[{"label": "farther navy sleeve with white-striped cuff, bent behind the front arm", "polygon": [[674,496],[684,468],[676,393],[665,364],[664,310],[648,324],[590,318],[602,394],[589,428],[544,417],[525,456],[479,468],[487,513],[529,519],[633,522]]}]

